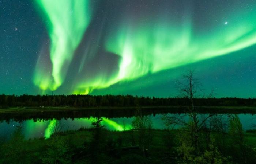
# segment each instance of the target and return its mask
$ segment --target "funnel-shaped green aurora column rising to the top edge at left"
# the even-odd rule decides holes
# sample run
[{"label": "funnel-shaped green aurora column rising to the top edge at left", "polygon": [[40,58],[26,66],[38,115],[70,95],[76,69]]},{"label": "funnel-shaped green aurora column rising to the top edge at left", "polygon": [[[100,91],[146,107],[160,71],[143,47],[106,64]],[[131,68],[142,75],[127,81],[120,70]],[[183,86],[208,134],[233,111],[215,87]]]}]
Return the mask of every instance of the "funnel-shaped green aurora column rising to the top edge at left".
[{"label": "funnel-shaped green aurora column rising to the top edge at left", "polygon": [[36,68],[34,83],[42,90],[56,90],[65,78],[74,51],[90,22],[89,0],[36,0],[51,40],[52,72]]}]

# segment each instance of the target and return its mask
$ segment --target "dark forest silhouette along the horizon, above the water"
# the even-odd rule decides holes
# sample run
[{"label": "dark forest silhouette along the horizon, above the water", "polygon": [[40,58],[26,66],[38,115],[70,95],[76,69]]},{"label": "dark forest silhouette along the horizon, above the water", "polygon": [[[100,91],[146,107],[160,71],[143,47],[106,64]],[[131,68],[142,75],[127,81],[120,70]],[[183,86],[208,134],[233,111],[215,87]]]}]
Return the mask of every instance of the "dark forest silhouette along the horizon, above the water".
[{"label": "dark forest silhouette along the horizon, above the water", "polygon": [[[256,106],[256,98],[194,98],[197,106]],[[188,106],[189,98],[133,95],[0,95],[0,108],[8,107],[134,107]]]}]

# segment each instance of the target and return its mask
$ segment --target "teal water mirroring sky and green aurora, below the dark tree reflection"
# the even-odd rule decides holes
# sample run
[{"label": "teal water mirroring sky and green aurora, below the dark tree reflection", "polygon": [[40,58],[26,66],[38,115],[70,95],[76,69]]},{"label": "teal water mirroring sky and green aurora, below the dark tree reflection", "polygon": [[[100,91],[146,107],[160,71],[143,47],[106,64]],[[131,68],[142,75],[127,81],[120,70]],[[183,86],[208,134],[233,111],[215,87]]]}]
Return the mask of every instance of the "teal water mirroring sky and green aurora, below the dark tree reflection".
[{"label": "teal water mirroring sky and green aurora, below the dark tree reflection", "polygon": [[[152,126],[154,129],[165,129],[166,126],[161,120],[163,114],[151,114],[150,117],[152,119]],[[179,116],[179,115],[176,115]],[[182,116],[182,114],[180,114]],[[218,114],[221,116],[224,121],[227,121],[227,114]],[[238,114],[240,121],[243,125],[244,130],[253,129],[253,124],[256,124],[256,115],[253,114]],[[35,119],[34,119],[35,120]],[[46,137],[49,138],[52,133],[52,129],[54,126],[59,125],[62,131],[66,130],[78,130],[80,128],[91,128],[91,122],[94,120],[93,117],[90,118],[62,118],[61,120],[56,119],[48,119],[48,120],[37,120],[34,121],[32,119],[28,119],[25,121],[17,122],[14,120],[2,120],[0,122],[0,137],[10,138],[11,134],[16,129],[16,126],[21,125],[22,132],[26,139],[30,138],[40,138]],[[132,120],[133,117],[119,117],[119,118],[105,118],[103,119],[102,125],[105,126],[106,129],[109,130],[129,130],[132,128]]]}]

